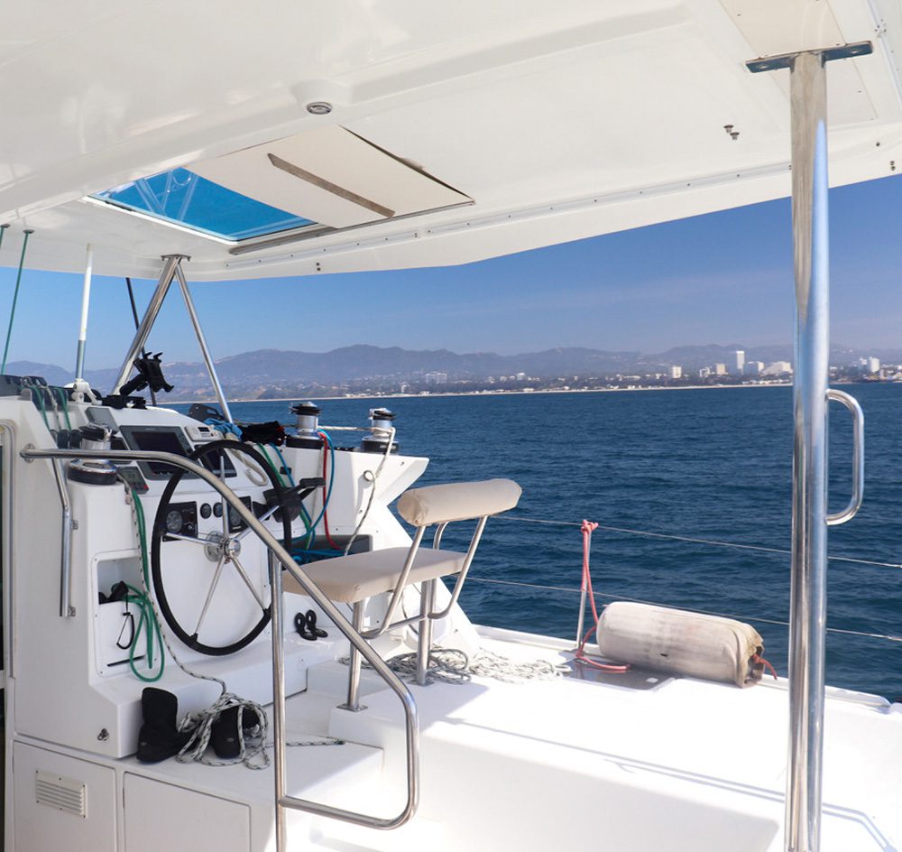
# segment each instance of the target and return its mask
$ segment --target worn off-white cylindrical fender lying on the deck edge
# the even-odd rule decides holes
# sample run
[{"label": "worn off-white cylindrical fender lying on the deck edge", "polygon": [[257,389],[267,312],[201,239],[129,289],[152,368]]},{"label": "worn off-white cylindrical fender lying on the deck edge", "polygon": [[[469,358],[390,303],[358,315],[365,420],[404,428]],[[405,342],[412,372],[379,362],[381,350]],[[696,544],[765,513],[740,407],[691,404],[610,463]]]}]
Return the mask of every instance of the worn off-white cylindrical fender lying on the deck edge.
[{"label": "worn off-white cylindrical fender lying on the deck edge", "polygon": [[598,620],[597,638],[608,660],[741,687],[761,679],[763,640],[732,618],[615,601]]}]

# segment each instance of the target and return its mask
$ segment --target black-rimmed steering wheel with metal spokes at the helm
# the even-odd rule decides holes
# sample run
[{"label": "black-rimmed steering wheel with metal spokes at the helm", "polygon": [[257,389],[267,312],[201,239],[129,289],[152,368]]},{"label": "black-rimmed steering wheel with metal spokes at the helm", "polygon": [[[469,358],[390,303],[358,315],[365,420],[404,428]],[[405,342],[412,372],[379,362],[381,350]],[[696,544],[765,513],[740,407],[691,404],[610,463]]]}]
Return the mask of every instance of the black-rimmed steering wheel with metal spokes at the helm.
[{"label": "black-rimmed steering wheel with metal spokes at the helm", "polygon": [[[267,460],[249,444],[236,440],[214,440],[195,449],[194,452],[190,454],[189,458],[204,464],[205,459],[213,457],[214,460],[212,463],[207,462],[205,464],[205,467],[213,470],[216,469],[216,459],[218,459],[219,476],[225,481],[226,452],[244,453],[245,456],[251,458],[266,474],[266,477],[272,485],[276,504],[267,513],[262,514],[261,517],[265,518],[269,514],[274,514],[282,504],[283,495],[285,494],[286,489],[281,485],[279,478],[276,477],[275,473],[272,471],[269,462],[267,462]],[[186,471],[182,468],[176,468],[173,472],[169,483],[163,490],[160,498],[160,505],[157,508],[157,514],[153,520],[151,543],[153,590],[156,593],[157,603],[160,604],[160,610],[163,617],[166,619],[166,623],[170,625],[172,632],[176,634],[184,644],[200,653],[207,653],[212,656],[225,656],[226,654],[240,651],[242,648],[251,644],[253,640],[262,633],[263,628],[269,624],[270,621],[272,600],[267,602],[263,599],[260,589],[254,586],[253,579],[251,579],[247,571],[244,570],[244,565],[242,565],[240,559],[241,542],[251,530],[249,527],[246,527],[244,523],[240,523],[239,519],[230,512],[229,505],[226,503],[225,498],[220,504],[222,506],[222,532],[184,535],[181,532],[170,532],[167,530],[166,517],[171,511],[172,495],[175,494],[175,490],[179,486],[179,482],[184,478],[185,473]],[[288,511],[282,510],[281,524],[283,543],[290,545],[291,519]],[[235,529],[235,527],[237,527],[237,529]],[[195,559],[197,560],[199,558],[199,560],[209,562],[208,567],[211,569],[209,572],[210,579],[209,587],[207,588],[207,596],[204,599],[203,606],[199,608],[197,622],[191,630],[185,629],[185,627],[179,623],[179,618],[173,612],[173,608],[170,606],[170,600],[166,595],[161,568],[161,544],[164,541],[168,542],[171,540],[177,542],[191,542],[194,544],[197,549],[197,553],[194,554]],[[195,567],[197,564],[196,561],[193,563]],[[197,573],[198,572],[195,570],[195,574]],[[206,573],[206,571],[201,570],[201,578],[204,582],[206,582]],[[198,637],[201,628],[204,625],[204,621],[207,618],[207,612],[210,608],[210,603],[213,600],[214,593],[216,592],[216,587],[219,585],[220,580],[223,579],[224,573],[226,574],[227,581],[229,581],[227,578],[229,573],[236,575],[237,578],[241,580],[241,583],[246,587],[246,591],[253,597],[254,606],[260,608],[261,615],[248,632],[234,642],[227,644],[206,644],[201,642]],[[235,587],[239,584],[235,584],[234,580],[232,580],[230,581],[230,585],[234,591]],[[232,597],[235,597],[234,594]],[[234,606],[234,599],[232,604]],[[184,612],[183,606],[179,607],[179,609]],[[253,610],[250,610],[249,614],[238,612],[236,613],[236,620],[240,622],[242,618],[246,618],[246,620],[249,621],[252,616]],[[184,618],[185,616],[183,615],[182,617]]]}]

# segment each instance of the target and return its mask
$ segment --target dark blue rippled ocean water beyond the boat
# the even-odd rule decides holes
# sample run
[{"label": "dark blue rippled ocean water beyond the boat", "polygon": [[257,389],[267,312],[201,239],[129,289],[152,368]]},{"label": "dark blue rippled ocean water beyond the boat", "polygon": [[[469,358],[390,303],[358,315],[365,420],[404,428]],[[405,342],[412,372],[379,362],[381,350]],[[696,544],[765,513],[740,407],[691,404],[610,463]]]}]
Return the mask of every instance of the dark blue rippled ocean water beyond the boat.
[{"label": "dark blue rippled ocean water beyond the boat", "polygon": [[[902,563],[902,385],[850,385],[865,412],[861,512],[829,532],[832,557]],[[419,485],[486,477],[520,483],[520,505],[490,520],[462,605],[477,623],[575,636],[583,518],[594,590],[749,621],[787,672],[792,392],[787,387],[325,400],[322,423],[397,414],[401,451],[431,461]],[[291,424],[288,402],[235,403],[239,421]],[[351,434],[352,438],[346,437]],[[359,440],[336,434],[339,445]],[[851,418],[833,404],[831,511],[851,488]],[[556,523],[530,523],[551,521]],[[631,530],[752,545],[743,550]],[[465,546],[469,530],[446,532]],[[527,588],[479,582],[556,587]],[[588,616],[591,617],[591,616]],[[832,560],[827,681],[902,697],[902,569]],[[851,631],[852,633],[843,633]]]}]

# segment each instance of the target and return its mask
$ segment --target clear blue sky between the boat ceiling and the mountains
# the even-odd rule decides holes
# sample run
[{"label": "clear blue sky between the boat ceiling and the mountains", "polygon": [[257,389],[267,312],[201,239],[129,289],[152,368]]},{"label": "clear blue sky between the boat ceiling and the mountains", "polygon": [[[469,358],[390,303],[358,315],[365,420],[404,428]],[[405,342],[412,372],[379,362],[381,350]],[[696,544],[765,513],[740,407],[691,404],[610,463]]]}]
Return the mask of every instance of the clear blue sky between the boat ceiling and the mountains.
[{"label": "clear blue sky between the boat ceiling and the mountains", "polygon": [[[832,190],[830,203],[833,341],[902,347],[902,181]],[[4,338],[14,273],[0,270]],[[153,283],[134,285],[140,310]],[[502,354],[785,344],[792,288],[789,201],[782,199],[479,264],[196,282],[192,292],[214,357],[225,357],[355,343]],[[74,366],[80,291],[80,276],[26,270],[9,360]],[[132,334],[124,282],[96,277],[87,366],[118,366]],[[199,359],[175,290],[151,348],[166,360]]]}]

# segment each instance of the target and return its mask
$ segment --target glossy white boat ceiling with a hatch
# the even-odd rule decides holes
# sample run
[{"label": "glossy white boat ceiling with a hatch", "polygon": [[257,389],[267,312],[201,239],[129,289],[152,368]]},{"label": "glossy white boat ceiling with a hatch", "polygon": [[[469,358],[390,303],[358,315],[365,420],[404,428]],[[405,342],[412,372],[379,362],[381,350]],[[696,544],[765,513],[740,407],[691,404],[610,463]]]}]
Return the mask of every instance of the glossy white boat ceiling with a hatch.
[{"label": "glossy white boat ceiling with a hatch", "polygon": [[[12,5],[0,264],[24,228],[58,271],[87,243],[97,273],[183,254],[192,280],[462,264],[778,198],[789,72],[745,62],[869,40],[827,66],[833,185],[902,164],[897,0]],[[97,198],[172,170],[301,224],[235,239]]]}]

